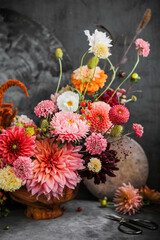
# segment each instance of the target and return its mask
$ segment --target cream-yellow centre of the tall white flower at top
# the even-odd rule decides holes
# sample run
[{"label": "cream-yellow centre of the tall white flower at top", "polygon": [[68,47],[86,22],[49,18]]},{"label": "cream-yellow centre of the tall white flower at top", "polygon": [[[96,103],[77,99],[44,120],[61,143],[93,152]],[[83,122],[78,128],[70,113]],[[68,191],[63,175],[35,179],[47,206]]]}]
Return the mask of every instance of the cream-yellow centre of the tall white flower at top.
[{"label": "cream-yellow centre of the tall white flower at top", "polygon": [[107,58],[109,48],[101,42],[97,42],[93,47],[94,54],[99,58]]}]

